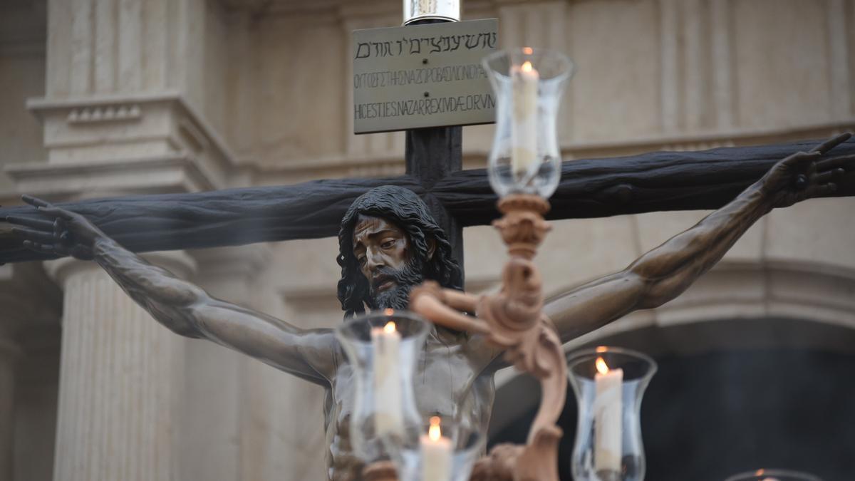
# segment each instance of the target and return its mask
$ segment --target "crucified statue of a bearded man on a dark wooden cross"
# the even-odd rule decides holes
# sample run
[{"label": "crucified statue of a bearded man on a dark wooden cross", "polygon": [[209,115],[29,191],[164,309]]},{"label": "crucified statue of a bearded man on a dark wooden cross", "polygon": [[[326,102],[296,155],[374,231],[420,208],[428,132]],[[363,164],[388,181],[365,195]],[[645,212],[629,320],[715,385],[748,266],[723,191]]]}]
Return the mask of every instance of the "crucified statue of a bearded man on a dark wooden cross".
[{"label": "crucified statue of a bearded man on a dark wooden cross", "polygon": [[[548,219],[716,211],[626,269],[547,300],[544,312],[557,336],[570,341],[674,299],[775,208],[855,194],[850,136],[816,147],[801,142],[563,163]],[[484,169],[461,170],[461,128],[414,129],[406,140],[406,175],[395,178],[62,205],[24,196],[32,207],[0,209],[0,218],[15,225],[14,235],[0,231],[0,264],[62,256],[91,260],[176,334],[213,341],[320,385],[326,391],[328,478],[357,480],[363,466],[349,433],[355,373],[333,330],[300,329],[215,299],[136,252],[338,235],[338,298],[345,319],[406,309],[410,291],[425,281],[462,289],[463,227],[497,217],[496,197]],[[834,148],[842,155],[827,157]],[[507,365],[502,354],[484,336],[433,325],[415,377],[422,413],[486,431],[494,374]]]}]

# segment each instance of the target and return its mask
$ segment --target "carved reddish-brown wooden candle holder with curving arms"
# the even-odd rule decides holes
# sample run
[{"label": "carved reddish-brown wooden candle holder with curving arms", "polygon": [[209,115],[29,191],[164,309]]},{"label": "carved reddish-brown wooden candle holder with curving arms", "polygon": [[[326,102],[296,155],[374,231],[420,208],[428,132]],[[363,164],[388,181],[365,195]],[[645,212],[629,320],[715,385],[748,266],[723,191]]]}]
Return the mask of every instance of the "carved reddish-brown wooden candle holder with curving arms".
[{"label": "carved reddish-brown wooden candle holder with curving arms", "polygon": [[[564,407],[567,366],[561,341],[545,317],[540,273],[532,259],[550,225],[543,219],[549,203],[537,195],[508,195],[498,202],[504,217],[493,225],[508,246],[498,294],[474,296],[425,282],[410,294],[410,309],[455,330],[487,336],[505,349],[505,359],[540,379],[540,408],[524,446],[503,444],[478,460],[472,481],[558,481],[557,448],[562,436],[555,424]],[[475,312],[470,317],[463,312]],[[387,461],[374,463],[366,479],[392,481]]]}]

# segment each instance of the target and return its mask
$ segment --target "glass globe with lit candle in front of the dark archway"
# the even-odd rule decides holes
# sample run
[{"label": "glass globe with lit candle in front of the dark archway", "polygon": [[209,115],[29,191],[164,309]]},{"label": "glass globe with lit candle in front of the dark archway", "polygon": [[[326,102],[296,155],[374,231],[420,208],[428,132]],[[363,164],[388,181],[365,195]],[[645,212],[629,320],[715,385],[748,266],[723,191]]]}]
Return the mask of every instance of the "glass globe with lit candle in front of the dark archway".
[{"label": "glass globe with lit candle in front of the dark archway", "polygon": [[641,397],[656,372],[645,354],[597,347],[569,355],[568,376],[579,405],[573,447],[576,481],[641,481]]}]

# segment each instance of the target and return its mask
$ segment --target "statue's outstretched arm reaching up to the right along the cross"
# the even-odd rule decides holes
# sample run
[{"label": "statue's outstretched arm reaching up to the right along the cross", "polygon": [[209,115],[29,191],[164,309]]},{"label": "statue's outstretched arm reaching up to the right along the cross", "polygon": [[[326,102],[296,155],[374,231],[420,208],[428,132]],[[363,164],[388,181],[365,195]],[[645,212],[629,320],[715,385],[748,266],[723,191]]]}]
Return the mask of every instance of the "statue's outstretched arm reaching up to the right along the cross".
[{"label": "statue's outstretched arm reaching up to the right along the cross", "polygon": [[811,152],[787,157],[730,204],[692,229],[647,252],[627,269],[547,301],[544,311],[569,341],[637,309],[663,305],[716,264],[760,217],[775,207],[834,192],[835,177],[855,167],[855,156],[820,160],[846,141],[843,134]]}]

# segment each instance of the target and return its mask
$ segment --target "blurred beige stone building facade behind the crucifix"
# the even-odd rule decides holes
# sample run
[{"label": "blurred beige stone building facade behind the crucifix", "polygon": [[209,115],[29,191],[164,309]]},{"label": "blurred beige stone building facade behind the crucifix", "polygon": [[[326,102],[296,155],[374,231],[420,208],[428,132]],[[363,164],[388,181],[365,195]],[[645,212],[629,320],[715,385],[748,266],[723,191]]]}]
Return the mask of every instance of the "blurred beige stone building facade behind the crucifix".
[{"label": "blurred beige stone building facade behind the crucifix", "polygon": [[[565,159],[855,130],[852,0],[463,0],[505,46],[567,53]],[[404,134],[351,134],[351,31],[396,0],[4,0],[0,204],[398,175]],[[463,129],[483,167],[491,126]],[[681,298],[573,341],[660,365],[648,479],[790,467],[855,478],[852,199],[759,221]],[[621,270],[704,211],[554,223],[547,294]],[[133,219],[129,219],[133,222]],[[504,246],[465,235],[467,288]],[[333,239],[158,252],[211,294],[334,326]],[[0,480],[323,479],[322,390],[152,321],[97,266],[0,267]],[[63,329],[65,326],[65,329]],[[522,441],[537,388],[502,371],[491,442]],[[563,419],[563,478],[575,431]]]}]

